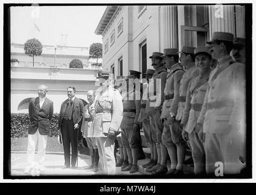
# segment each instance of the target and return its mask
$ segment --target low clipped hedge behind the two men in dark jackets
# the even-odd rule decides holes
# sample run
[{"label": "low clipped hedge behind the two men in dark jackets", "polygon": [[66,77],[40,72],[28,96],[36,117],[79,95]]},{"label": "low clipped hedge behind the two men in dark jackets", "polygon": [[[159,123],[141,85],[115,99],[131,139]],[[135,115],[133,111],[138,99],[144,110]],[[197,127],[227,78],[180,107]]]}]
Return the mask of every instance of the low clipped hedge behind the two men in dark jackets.
[{"label": "low clipped hedge behind the two men in dark jackets", "polygon": [[[53,118],[50,121],[50,137],[58,135],[58,119],[59,114],[53,113]],[[12,138],[28,137],[28,113],[11,113],[10,120],[10,135]]]}]

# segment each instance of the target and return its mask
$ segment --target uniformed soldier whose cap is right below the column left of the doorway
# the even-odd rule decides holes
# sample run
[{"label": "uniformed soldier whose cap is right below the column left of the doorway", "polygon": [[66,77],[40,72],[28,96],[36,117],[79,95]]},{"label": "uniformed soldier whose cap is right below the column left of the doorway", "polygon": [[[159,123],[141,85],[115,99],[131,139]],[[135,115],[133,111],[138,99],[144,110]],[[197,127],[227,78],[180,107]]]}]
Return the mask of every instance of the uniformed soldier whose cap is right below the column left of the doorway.
[{"label": "uniformed soldier whose cap is right below the column left of the doorway", "polygon": [[[184,74],[184,70],[178,63],[178,49],[164,49],[163,58],[165,68],[167,68],[168,71],[168,75],[164,90],[165,96],[162,113],[160,116],[160,122],[164,123],[162,142],[167,147],[168,155],[170,156],[171,160],[171,169],[167,172],[167,174],[172,175],[175,174],[178,161],[176,143],[183,142],[183,140],[181,137],[177,137],[177,133],[170,131],[169,121],[167,121],[167,119],[170,119],[170,109],[174,113],[176,113],[175,110],[178,110],[179,82],[181,81],[181,77]],[[161,165],[164,166],[164,169],[162,169],[162,171],[159,173],[164,174],[167,171],[166,158],[165,161],[161,162]]]}]

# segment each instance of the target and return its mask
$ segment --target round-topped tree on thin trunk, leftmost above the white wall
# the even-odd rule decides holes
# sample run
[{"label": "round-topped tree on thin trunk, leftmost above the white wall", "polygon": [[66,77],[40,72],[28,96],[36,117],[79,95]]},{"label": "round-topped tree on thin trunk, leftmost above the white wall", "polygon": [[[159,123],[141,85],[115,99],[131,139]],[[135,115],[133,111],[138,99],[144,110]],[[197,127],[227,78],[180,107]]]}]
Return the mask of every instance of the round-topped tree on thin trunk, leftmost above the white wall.
[{"label": "round-topped tree on thin trunk, leftmost above the white wall", "polygon": [[43,51],[42,43],[36,38],[32,38],[26,41],[24,44],[25,54],[33,57],[33,67],[34,67],[34,56],[41,55]]}]

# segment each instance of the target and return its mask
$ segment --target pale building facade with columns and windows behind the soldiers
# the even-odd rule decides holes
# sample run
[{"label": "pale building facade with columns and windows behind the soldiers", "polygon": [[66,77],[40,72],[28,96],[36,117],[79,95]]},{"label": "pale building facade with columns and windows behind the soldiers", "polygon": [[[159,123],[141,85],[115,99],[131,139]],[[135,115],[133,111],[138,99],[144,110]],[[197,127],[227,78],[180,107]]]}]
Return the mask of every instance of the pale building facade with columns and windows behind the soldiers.
[{"label": "pale building facade with columns and windows behind the soldiers", "polygon": [[108,6],[95,30],[102,35],[102,68],[115,77],[129,69],[145,73],[154,51],[202,46],[216,31],[244,38],[245,12],[221,4]]}]

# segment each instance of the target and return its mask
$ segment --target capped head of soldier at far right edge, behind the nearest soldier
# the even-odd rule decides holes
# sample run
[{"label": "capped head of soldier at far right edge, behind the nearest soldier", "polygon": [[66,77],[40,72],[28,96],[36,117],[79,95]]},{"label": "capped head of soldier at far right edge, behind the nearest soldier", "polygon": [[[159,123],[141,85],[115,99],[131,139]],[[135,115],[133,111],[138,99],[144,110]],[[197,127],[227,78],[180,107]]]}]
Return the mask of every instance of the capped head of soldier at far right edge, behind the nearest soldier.
[{"label": "capped head of soldier at far right edge, behind the nearest soldier", "polygon": [[246,64],[246,40],[244,38],[235,37],[233,39],[232,57],[236,62]]}]

